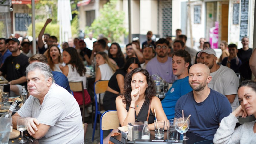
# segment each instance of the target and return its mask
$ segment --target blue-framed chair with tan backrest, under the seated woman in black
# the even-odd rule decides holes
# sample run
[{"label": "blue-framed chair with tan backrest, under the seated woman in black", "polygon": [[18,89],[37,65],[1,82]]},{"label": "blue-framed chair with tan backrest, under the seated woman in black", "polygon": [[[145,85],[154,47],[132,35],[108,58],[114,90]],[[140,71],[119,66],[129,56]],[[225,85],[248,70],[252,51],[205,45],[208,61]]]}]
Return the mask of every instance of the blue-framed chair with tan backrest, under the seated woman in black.
[{"label": "blue-framed chair with tan backrest, under the seated woman in black", "polygon": [[108,87],[108,81],[109,80],[98,80],[94,83],[94,99],[95,99],[95,117],[94,117],[94,123],[93,123],[93,133],[92,133],[92,141],[94,141],[94,135],[95,135],[95,129],[97,126],[97,116],[102,115],[100,112],[100,103],[98,105],[97,102],[97,94],[99,94],[99,101],[100,101],[100,93],[105,93],[107,87]]}]

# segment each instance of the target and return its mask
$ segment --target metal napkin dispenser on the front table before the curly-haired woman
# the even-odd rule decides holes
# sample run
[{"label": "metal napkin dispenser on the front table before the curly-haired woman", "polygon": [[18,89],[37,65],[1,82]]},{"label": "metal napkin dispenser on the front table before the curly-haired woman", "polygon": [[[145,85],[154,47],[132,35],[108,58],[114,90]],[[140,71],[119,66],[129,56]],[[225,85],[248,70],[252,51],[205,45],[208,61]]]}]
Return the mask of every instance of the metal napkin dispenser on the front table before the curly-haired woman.
[{"label": "metal napkin dispenser on the front table before the curly-haired woman", "polygon": [[[144,123],[133,122],[133,123],[129,123],[128,125],[129,125],[128,133],[130,135],[131,141],[134,141],[136,139],[141,139]],[[129,140],[129,136],[128,136],[128,140]]]}]

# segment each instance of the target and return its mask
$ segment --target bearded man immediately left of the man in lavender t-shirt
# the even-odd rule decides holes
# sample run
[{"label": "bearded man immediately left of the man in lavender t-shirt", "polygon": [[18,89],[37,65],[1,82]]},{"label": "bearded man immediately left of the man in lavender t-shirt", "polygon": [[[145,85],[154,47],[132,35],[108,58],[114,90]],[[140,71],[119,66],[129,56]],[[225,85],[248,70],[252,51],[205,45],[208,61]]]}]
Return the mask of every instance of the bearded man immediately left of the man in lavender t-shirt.
[{"label": "bearded man immediately left of the man in lavender t-shirt", "polygon": [[140,64],[143,69],[146,69],[147,63],[155,56],[155,48],[152,44],[144,45],[143,49],[143,58],[145,59],[145,63]]}]

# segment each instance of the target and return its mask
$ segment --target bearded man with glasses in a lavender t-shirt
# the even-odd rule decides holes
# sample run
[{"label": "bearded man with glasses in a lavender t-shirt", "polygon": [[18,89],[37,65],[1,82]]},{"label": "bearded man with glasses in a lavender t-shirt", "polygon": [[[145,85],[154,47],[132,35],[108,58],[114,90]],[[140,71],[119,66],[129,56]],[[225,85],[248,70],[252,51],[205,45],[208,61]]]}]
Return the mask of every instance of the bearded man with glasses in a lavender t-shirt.
[{"label": "bearded man with glasses in a lavender t-shirt", "polygon": [[172,58],[168,57],[170,42],[164,38],[156,41],[156,57],[151,59],[146,69],[150,75],[158,75],[168,83],[174,82],[177,77],[172,72]]}]

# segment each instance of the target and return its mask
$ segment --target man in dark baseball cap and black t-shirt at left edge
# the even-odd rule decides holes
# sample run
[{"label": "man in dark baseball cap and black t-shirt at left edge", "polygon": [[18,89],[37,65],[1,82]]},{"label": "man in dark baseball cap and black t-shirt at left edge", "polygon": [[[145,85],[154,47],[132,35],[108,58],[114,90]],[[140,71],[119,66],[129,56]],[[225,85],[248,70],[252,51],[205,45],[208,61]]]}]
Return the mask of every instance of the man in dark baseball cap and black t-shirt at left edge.
[{"label": "man in dark baseball cap and black t-shirt at left edge", "polygon": [[7,39],[6,44],[12,55],[4,61],[0,68],[0,75],[6,75],[6,80],[10,84],[11,96],[21,95],[22,85],[27,87],[25,70],[29,64],[28,57],[20,53],[20,41],[18,39]]}]

